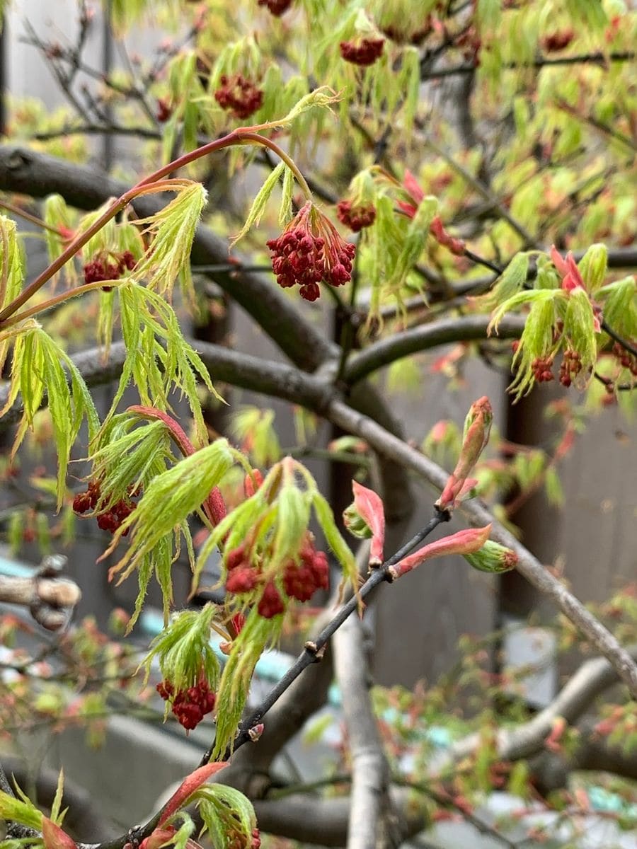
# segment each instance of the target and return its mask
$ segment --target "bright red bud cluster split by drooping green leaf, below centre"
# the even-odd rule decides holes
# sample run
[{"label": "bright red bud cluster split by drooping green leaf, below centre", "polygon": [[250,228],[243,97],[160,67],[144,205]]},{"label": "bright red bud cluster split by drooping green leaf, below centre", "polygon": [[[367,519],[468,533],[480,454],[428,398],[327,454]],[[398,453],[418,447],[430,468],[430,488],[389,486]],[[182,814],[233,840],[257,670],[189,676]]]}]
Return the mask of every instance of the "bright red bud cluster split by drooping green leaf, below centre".
[{"label": "bright red bud cluster split by drooping green leaf, below centre", "polygon": [[[250,562],[250,551],[240,545],[228,552],[226,556],[226,592],[250,593],[260,582],[261,571]],[[318,589],[330,586],[330,567],[327,557],[322,551],[314,548],[307,537],[300,553],[299,562],[290,560],[285,565],[283,573],[283,588],[290,599],[309,601]],[[273,581],[268,581],[263,587],[262,596],[256,608],[264,619],[272,619],[285,611],[281,593]]]}]

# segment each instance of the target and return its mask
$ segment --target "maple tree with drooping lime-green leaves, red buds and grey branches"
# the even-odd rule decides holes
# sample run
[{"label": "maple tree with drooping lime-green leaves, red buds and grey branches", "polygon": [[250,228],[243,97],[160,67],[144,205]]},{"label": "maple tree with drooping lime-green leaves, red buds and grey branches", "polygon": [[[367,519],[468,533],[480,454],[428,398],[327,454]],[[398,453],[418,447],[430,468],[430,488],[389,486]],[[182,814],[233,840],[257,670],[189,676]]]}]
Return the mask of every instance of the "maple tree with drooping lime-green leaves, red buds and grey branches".
[{"label": "maple tree with drooping lime-green leaves, red buds and grey branches", "polygon": [[[68,627],[78,591],[57,561],[32,580],[0,582],[0,598],[26,600],[40,624],[61,629],[67,667],[60,680],[53,665],[35,668],[37,655],[15,655],[4,724],[28,727],[15,706],[31,699],[52,722],[79,716],[91,726],[113,689],[97,673],[107,662],[117,688],[145,703],[159,694],[164,718],[183,733],[211,718],[210,745],[177,793],[100,849],[192,849],[200,840],[256,849],[259,799],[250,801],[250,781],[237,773],[262,770],[252,751],[268,772],[318,707],[309,695],[315,670],[332,663],[349,742],[341,845],[351,849],[397,846],[448,810],[475,823],[476,798],[495,788],[549,805],[542,770],[529,766],[542,750],[581,762],[590,739],[602,737],[617,773],[634,778],[625,764],[635,745],[634,599],[624,593],[589,610],[516,538],[501,502],[541,486],[559,501],[559,463],[587,417],[634,406],[637,14],[622,0],[112,0],[104,9],[123,42],[151,18],[171,35],[155,56],[104,73],[86,56],[88,3],[78,5],[75,42],[27,25],[69,105],[49,113],[11,102],[0,146],[0,423],[14,426],[4,475],[11,480],[16,453],[42,434],[57,469],[38,483],[59,515],[49,522],[31,505],[15,509],[8,538],[72,546],[78,524],[95,523],[111,535],[100,559],[116,559],[110,580],[138,582],[134,610],[117,613],[114,627],[132,631],[151,582],[163,627],[140,664],[126,634],[116,641],[91,621]],[[441,98],[448,79],[458,81],[454,97]],[[96,179],[86,164],[96,134],[143,142],[134,167],[122,162]],[[23,220],[46,239],[48,266],[36,275]],[[241,240],[249,260],[234,248]],[[290,364],[195,339],[192,324],[211,314],[206,280]],[[480,391],[464,430],[441,422],[420,448],[403,440],[369,378],[391,367],[400,382],[415,354],[449,343],[452,374],[482,357],[510,372],[514,402],[537,384],[561,385],[552,455],[491,434]],[[115,389],[99,410],[91,389],[104,380]],[[342,525],[302,452],[283,456],[272,413],[241,410],[224,436],[216,432],[211,405],[223,400],[222,381],[303,408],[306,427],[312,413],[346,434],[322,449],[358,467]],[[421,391],[425,399],[426,383]],[[78,457],[88,458],[82,481]],[[437,495],[431,520],[406,543],[408,471]],[[469,527],[425,543],[452,514]],[[358,549],[354,537],[364,540]],[[223,592],[203,606],[176,604],[178,559],[189,563],[191,598],[202,598],[217,554]],[[583,683],[578,672],[531,718],[517,703],[498,713],[511,681],[490,668],[488,640],[465,645],[461,678],[478,690],[481,710],[419,784],[401,775],[398,755],[433,762],[416,731],[443,722],[448,687],[379,691],[373,705],[355,612],[364,616],[381,583],[409,581],[443,554],[483,572],[517,569],[561,611],[564,647],[585,641],[604,660],[584,665]],[[318,598],[324,610],[307,613],[302,605]],[[29,627],[4,616],[3,641]],[[301,653],[248,710],[257,661],[295,627]],[[595,676],[619,679],[622,696],[579,739]],[[104,686],[70,702],[74,678]],[[390,709],[409,719],[392,726],[383,719]],[[0,779],[3,845],[83,845],[64,829],[61,779],[49,817],[2,771]],[[430,807],[414,816],[406,796],[396,801],[401,781]],[[588,797],[567,794],[561,804],[576,821]],[[305,826],[276,833],[319,841],[320,829]]]}]

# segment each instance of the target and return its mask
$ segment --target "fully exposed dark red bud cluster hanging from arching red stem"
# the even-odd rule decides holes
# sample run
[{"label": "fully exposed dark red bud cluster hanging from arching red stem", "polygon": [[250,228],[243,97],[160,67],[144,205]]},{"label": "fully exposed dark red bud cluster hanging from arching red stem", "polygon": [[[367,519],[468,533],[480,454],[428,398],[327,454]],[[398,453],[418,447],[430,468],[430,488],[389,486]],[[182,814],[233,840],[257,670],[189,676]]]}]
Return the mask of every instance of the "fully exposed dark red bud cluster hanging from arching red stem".
[{"label": "fully exposed dark red bud cluster hanging from arching red stem", "polygon": [[318,284],[341,286],[352,278],[354,245],[343,241],[334,225],[311,201],[298,211],[278,239],[269,239],[272,269],[284,289],[301,286],[301,297],[316,301]]}]

